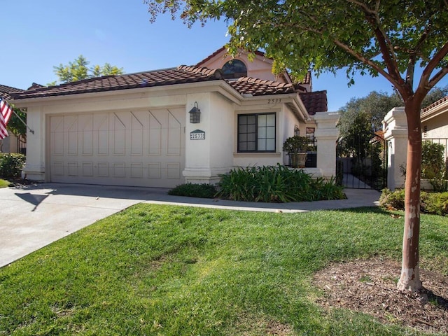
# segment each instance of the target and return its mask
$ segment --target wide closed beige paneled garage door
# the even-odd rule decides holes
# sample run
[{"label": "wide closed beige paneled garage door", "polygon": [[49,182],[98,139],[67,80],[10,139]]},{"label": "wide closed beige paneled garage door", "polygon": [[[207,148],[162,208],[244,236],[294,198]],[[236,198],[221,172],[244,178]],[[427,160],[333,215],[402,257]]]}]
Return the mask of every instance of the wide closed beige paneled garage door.
[{"label": "wide closed beige paneled garage door", "polygon": [[52,182],[172,188],[184,183],[185,109],[50,117]]}]

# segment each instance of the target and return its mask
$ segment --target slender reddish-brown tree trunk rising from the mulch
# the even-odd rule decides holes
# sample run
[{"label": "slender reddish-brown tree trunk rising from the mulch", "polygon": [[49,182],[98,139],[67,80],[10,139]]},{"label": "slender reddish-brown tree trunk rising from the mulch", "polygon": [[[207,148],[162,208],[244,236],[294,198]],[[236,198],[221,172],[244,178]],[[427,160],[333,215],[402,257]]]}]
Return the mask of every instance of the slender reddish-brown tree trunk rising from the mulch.
[{"label": "slender reddish-brown tree trunk rising from the mulch", "polygon": [[398,289],[421,290],[419,274],[421,122],[420,105],[409,99],[407,117],[407,162],[405,184],[405,232],[402,246],[402,268]]}]

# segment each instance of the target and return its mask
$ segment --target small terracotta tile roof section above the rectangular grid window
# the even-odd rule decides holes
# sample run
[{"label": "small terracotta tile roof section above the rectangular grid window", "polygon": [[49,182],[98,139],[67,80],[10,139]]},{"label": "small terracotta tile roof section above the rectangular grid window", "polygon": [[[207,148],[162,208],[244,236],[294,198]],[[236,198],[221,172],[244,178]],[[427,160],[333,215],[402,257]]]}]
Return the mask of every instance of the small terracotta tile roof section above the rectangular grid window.
[{"label": "small terracotta tile roof section above the rectangular grid window", "polygon": [[264,96],[267,94],[294,93],[294,85],[289,83],[278,83],[272,80],[264,80],[252,77],[241,77],[238,80],[228,81],[232,87],[241,94],[252,94],[253,96]]}]

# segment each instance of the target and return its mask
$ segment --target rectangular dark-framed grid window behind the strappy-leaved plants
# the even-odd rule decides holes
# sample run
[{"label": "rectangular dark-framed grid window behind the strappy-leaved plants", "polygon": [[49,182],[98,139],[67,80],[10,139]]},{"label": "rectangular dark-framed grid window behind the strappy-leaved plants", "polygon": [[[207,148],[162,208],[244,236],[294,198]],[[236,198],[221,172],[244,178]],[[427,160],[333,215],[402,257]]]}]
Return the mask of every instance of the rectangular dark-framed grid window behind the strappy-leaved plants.
[{"label": "rectangular dark-framed grid window behind the strappy-leaved plants", "polygon": [[275,152],[275,113],[238,115],[238,152]]}]

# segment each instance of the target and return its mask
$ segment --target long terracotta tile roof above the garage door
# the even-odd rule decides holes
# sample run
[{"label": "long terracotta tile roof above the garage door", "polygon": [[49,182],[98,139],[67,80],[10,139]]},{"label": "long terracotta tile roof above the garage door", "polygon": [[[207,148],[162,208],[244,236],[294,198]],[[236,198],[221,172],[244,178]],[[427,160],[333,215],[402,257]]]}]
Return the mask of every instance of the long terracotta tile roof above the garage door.
[{"label": "long terracotta tile roof above the garage door", "polygon": [[223,78],[221,70],[182,65],[177,68],[119,76],[103,76],[79,80],[72,83],[49,87],[31,87],[29,90],[14,94],[14,99],[62,96],[87,92],[104,92],[112,90],[134,89],[182,83],[203,82]]}]

